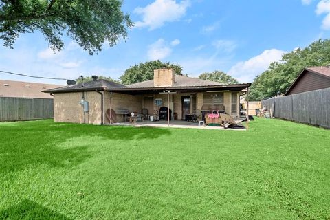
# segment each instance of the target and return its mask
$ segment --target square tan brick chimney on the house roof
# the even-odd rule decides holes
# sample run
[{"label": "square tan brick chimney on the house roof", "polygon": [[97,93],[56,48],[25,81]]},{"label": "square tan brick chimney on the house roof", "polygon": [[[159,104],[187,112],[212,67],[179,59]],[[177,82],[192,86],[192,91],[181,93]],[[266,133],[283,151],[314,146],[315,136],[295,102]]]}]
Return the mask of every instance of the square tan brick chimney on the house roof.
[{"label": "square tan brick chimney on the house roof", "polygon": [[155,87],[172,87],[174,85],[174,69],[155,69],[153,71],[153,85]]}]

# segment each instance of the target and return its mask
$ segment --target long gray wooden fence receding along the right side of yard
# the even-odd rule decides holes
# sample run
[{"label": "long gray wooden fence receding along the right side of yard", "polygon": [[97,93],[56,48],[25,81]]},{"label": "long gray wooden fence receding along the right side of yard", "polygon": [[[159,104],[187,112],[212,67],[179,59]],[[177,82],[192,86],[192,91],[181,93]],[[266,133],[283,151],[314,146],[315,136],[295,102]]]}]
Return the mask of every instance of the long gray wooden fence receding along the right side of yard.
[{"label": "long gray wooden fence receding along the right side of yard", "polygon": [[261,102],[261,105],[268,110],[272,108],[272,104],[274,104],[275,118],[330,128],[330,88],[271,98]]}]

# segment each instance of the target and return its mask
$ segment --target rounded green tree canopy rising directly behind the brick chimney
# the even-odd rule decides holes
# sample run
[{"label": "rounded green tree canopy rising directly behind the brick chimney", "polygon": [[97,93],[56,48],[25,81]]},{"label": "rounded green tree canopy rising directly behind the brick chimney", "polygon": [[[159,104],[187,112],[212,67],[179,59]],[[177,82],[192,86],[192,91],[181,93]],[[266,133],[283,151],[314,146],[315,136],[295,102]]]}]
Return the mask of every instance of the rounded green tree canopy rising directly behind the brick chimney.
[{"label": "rounded green tree canopy rising directly behind the brick chimney", "polygon": [[153,79],[153,70],[160,68],[173,68],[175,74],[182,75],[182,67],[173,63],[162,63],[162,61],[148,61],[146,63],[139,63],[126,69],[124,74],[120,76],[123,84],[129,85],[132,83],[140,83],[145,80]]}]

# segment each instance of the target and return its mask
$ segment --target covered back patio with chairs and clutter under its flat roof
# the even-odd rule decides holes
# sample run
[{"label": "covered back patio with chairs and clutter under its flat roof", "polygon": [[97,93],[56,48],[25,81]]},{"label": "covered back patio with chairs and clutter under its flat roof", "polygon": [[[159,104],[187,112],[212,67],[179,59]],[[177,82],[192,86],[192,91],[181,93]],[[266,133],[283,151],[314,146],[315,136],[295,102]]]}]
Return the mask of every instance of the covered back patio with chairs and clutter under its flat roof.
[{"label": "covered back patio with chairs and clutter under its flat roof", "polygon": [[[248,94],[248,91],[242,90],[249,86],[238,84],[107,89],[104,104],[109,109],[106,110],[104,124],[223,129],[219,114],[224,113],[239,120],[240,96]],[[209,114],[214,114],[219,120],[210,122]],[[202,121],[204,126],[199,126]],[[242,130],[238,127],[235,126],[235,130]]]}]

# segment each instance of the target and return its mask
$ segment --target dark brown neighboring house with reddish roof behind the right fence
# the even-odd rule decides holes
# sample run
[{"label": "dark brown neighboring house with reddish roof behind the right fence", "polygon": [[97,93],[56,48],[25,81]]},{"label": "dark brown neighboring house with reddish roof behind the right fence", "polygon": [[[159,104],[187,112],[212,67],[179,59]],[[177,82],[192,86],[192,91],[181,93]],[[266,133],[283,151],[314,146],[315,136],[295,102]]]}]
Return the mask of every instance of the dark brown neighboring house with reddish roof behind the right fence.
[{"label": "dark brown neighboring house with reddish roof behind the right fence", "polygon": [[307,67],[297,76],[284,96],[330,87],[330,67]]}]

